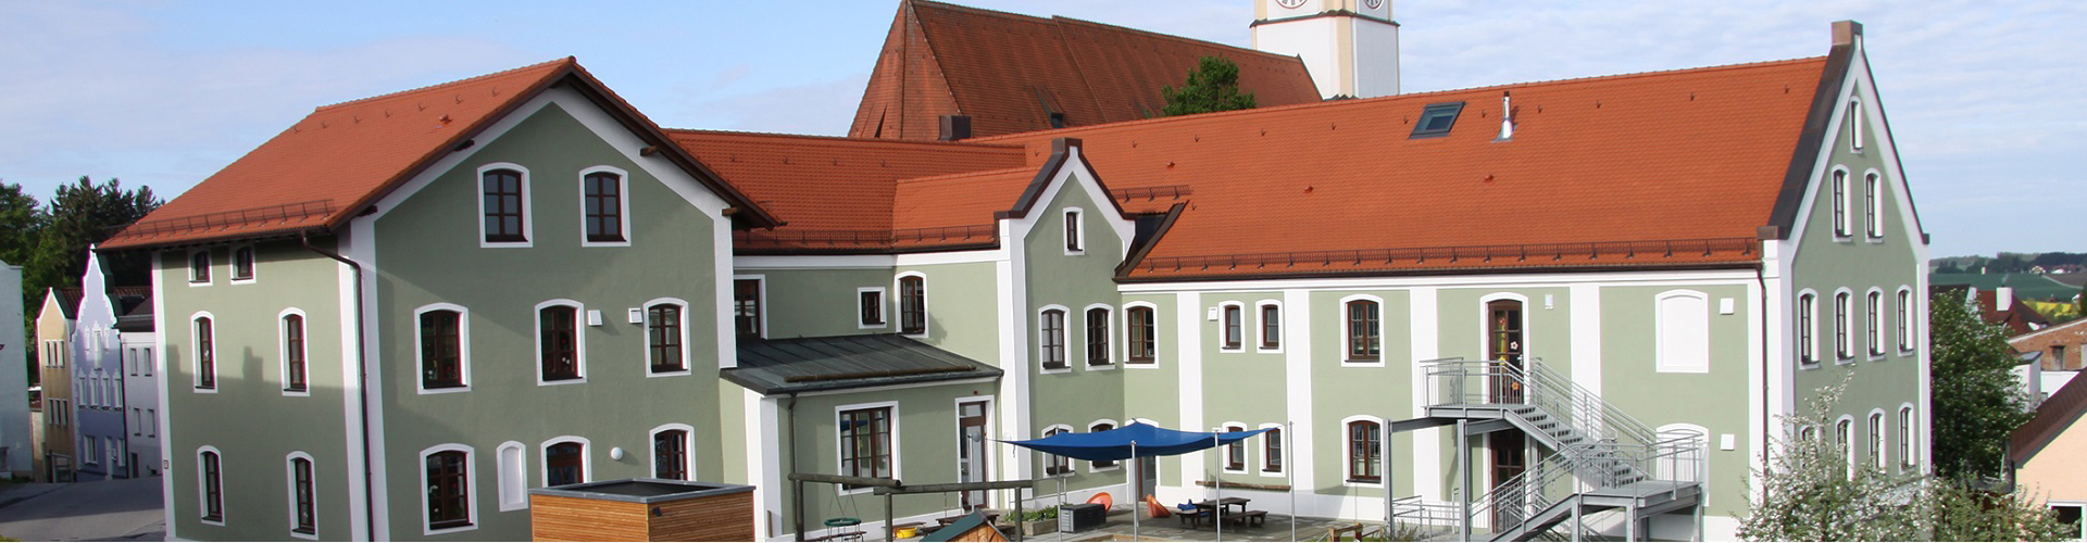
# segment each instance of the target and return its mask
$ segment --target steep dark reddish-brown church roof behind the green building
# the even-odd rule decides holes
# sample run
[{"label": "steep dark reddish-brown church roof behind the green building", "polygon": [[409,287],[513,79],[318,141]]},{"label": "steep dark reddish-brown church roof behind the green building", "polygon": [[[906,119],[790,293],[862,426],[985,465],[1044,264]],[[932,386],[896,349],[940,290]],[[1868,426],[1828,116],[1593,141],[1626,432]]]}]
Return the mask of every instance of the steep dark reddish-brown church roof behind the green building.
[{"label": "steep dark reddish-brown church roof behind the green building", "polygon": [[1296,56],[1064,17],[1027,17],[902,0],[847,129],[854,138],[935,140],[941,115],[968,115],[973,136],[1156,117],[1162,86],[1202,56],[1240,65],[1261,107],[1319,102]]}]

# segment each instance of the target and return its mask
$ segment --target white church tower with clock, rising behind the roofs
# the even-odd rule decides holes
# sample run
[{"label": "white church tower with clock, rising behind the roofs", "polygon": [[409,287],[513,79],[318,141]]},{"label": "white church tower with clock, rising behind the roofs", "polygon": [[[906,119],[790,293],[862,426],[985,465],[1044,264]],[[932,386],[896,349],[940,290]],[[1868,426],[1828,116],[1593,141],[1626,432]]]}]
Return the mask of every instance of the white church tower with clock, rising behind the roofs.
[{"label": "white church tower with clock, rising behind the roofs", "polygon": [[1296,54],[1319,96],[1398,94],[1392,0],[1256,0],[1254,48]]}]

